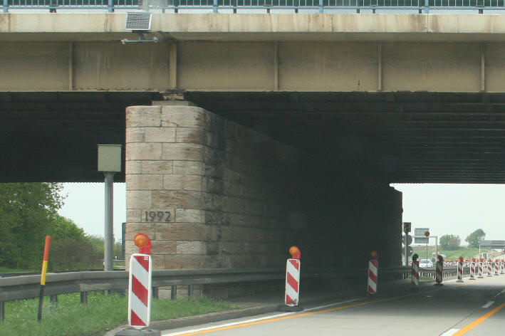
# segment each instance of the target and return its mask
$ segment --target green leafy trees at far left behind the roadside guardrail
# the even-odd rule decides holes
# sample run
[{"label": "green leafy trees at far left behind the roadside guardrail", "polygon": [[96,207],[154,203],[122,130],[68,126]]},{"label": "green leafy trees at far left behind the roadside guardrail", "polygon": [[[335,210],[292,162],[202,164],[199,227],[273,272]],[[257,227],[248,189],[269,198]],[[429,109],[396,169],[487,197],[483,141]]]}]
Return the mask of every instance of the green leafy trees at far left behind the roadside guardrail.
[{"label": "green leafy trees at far left behind the roadside guardrail", "polygon": [[[49,271],[103,268],[103,238],[58,214],[61,189],[58,183],[0,184],[0,266],[37,270],[49,235]],[[120,243],[114,253],[120,256]]]}]

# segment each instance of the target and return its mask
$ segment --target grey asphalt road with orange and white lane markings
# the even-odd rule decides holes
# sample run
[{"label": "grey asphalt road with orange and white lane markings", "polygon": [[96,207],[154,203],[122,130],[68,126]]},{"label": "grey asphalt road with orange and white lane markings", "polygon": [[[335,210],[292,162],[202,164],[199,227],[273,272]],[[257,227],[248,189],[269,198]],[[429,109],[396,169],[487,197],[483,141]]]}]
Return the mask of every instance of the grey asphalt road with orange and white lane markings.
[{"label": "grey asphalt road with orange and white lane markings", "polygon": [[505,335],[505,275],[164,330],[165,336]]}]

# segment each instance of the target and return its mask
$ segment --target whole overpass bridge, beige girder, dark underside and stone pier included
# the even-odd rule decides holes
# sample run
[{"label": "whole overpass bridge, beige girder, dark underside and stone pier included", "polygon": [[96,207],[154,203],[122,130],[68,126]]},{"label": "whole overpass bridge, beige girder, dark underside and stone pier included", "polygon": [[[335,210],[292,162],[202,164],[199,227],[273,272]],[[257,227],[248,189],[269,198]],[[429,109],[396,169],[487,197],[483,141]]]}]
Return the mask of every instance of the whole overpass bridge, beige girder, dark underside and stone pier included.
[{"label": "whole overpass bridge, beige girder, dark underside and stone pier included", "polygon": [[100,182],[121,143],[156,268],[397,263],[390,183],[504,182],[502,18],[153,14],[123,45],[125,14],[0,14],[0,179]]}]

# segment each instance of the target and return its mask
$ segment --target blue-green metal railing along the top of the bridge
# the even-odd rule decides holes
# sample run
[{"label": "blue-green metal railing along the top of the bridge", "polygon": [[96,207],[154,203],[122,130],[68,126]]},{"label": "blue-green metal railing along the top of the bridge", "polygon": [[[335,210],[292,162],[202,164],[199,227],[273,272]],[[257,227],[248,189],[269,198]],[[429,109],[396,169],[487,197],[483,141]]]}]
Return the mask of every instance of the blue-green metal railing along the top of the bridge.
[{"label": "blue-green metal railing along the top of the bridge", "polygon": [[[10,9],[43,9],[56,13],[59,9],[115,10],[153,9],[172,11],[264,11],[271,10],[324,13],[325,11],[430,10],[496,11],[505,9],[505,0],[0,0],[3,12]],[[1,4],[1,2],[0,2]]]}]

